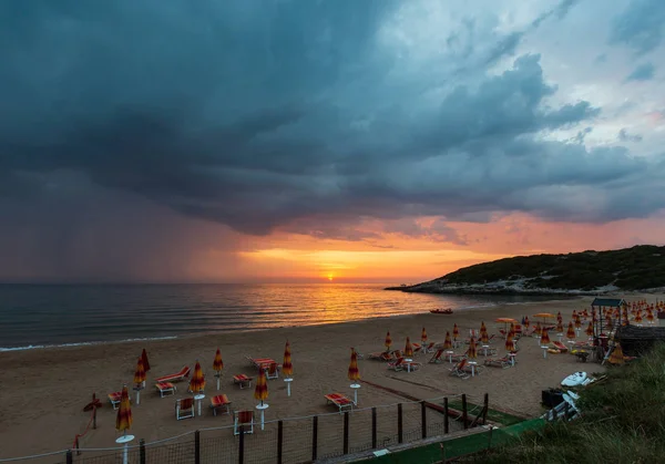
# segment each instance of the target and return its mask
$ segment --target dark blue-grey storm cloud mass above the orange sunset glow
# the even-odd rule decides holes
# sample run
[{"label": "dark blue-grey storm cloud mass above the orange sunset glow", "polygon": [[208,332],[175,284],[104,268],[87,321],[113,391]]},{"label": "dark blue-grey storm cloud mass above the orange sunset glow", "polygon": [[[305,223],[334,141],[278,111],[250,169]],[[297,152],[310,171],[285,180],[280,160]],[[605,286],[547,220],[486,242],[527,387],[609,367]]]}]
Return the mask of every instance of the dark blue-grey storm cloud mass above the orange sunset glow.
[{"label": "dark blue-grey storm cloud mass above the orange sunset glow", "polygon": [[[0,3],[0,195],[48,196],[57,212],[48,185],[74,173],[243,233],[346,240],[376,238],[348,227],[359,216],[603,221],[664,206],[662,166],[542,138],[601,110],[546,104],[556,87],[536,54],[436,100],[436,71],[399,81],[377,37],[401,4]],[[480,61],[515,53],[520,34]],[[411,233],[464,243],[446,227]]]}]

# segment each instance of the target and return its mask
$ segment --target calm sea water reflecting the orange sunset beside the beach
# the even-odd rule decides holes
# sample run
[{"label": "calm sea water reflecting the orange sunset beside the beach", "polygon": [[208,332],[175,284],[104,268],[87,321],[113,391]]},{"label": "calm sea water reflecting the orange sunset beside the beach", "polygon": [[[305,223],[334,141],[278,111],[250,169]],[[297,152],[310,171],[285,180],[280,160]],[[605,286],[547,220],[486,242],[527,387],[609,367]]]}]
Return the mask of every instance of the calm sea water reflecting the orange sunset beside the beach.
[{"label": "calm sea water reflecting the orange sunset beside the beach", "polygon": [[0,351],[321,324],[536,299],[402,293],[383,287],[4,285],[0,286]]}]

